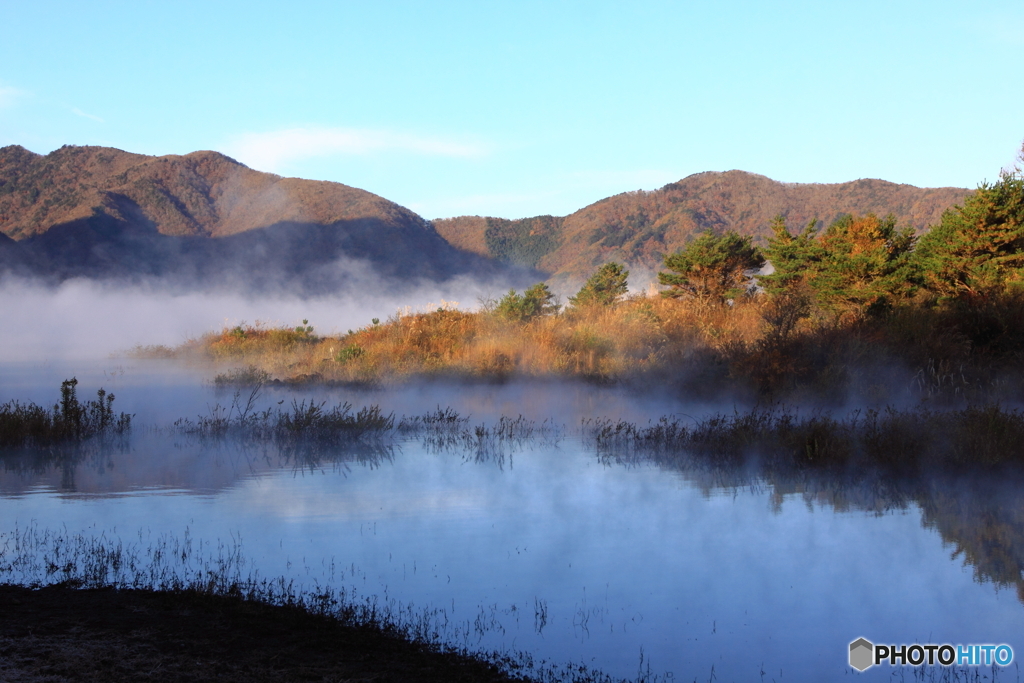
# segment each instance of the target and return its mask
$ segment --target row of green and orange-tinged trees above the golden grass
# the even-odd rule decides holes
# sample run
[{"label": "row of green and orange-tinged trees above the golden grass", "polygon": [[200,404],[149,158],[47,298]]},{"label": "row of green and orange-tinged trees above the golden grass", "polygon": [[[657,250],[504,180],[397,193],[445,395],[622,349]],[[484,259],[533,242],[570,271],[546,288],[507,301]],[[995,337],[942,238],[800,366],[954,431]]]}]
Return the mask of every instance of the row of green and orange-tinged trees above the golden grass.
[{"label": "row of green and orange-tinged trees above the golden grass", "polygon": [[[884,314],[900,303],[977,303],[1024,293],[1024,147],[1020,163],[993,183],[982,183],[948,209],[922,237],[890,215],[845,215],[821,228],[812,220],[792,231],[772,222],[767,246],[732,230],[707,231],[664,259],[663,296],[699,307],[721,307],[741,297],[785,300],[797,316],[811,307],[840,319]],[[771,264],[765,272],[766,263]],[[755,274],[759,273],[759,274]],[[627,293],[629,271],[606,263],[569,303],[608,306]],[[516,321],[557,312],[547,285],[510,291],[498,312]]]}]

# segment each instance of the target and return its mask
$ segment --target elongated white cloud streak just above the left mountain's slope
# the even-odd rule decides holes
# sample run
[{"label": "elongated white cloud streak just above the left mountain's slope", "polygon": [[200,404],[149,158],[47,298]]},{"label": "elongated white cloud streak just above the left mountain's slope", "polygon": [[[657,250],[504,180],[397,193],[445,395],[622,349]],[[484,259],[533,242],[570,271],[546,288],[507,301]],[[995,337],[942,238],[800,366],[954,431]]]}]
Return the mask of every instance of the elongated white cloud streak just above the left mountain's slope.
[{"label": "elongated white cloud streak just above the left mountain's slope", "polygon": [[479,157],[480,144],[439,137],[360,128],[289,128],[245,133],[228,141],[224,153],[261,171],[278,171],[313,157],[398,152],[436,157]]}]

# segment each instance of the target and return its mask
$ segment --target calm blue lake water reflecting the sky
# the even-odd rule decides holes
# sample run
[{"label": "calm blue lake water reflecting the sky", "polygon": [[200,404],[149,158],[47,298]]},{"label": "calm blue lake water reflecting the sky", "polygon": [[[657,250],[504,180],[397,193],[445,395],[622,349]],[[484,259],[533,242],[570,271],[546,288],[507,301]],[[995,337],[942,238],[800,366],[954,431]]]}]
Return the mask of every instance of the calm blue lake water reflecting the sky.
[{"label": "calm blue lake water reflecting the sky", "polygon": [[[4,461],[7,538],[35,526],[241,543],[263,577],[434,608],[469,625],[451,631],[459,644],[622,677],[636,677],[642,656],[669,680],[889,680],[888,666],[847,665],[861,636],[1008,643],[1024,656],[1024,489],[1006,479],[881,496],[855,481],[616,462],[598,457],[581,417],[645,422],[707,407],[554,385],[323,390],[399,415],[452,405],[471,426],[524,413],[559,427],[482,456],[414,436],[372,457],[310,461],[168,429],[230,396],[198,374],[119,362],[75,370],[81,397],[101,385],[116,409],[138,414],[127,446],[37,471]],[[51,404],[70,370],[0,367],[0,402]],[[261,401],[293,395],[308,392]],[[1017,675],[1015,663],[999,678]]]}]

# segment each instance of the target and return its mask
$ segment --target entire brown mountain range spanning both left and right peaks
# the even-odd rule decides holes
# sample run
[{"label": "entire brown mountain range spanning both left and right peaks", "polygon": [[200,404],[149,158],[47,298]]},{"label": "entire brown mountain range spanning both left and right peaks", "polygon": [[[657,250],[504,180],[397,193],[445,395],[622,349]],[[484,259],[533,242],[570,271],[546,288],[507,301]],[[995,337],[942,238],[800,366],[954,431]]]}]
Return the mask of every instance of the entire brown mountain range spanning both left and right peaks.
[{"label": "entire brown mountain range spanning both left and right peaks", "polygon": [[799,228],[812,218],[891,213],[922,231],[968,193],[709,172],[564,217],[431,223],[355,187],[261,173],[215,152],[148,157],[69,145],[41,156],[12,145],[0,148],[0,269],[324,292],[350,279],[346,259],[358,259],[395,282],[473,274],[572,284],[612,260],[636,274],[656,270],[709,228],[760,243],[778,214]]}]

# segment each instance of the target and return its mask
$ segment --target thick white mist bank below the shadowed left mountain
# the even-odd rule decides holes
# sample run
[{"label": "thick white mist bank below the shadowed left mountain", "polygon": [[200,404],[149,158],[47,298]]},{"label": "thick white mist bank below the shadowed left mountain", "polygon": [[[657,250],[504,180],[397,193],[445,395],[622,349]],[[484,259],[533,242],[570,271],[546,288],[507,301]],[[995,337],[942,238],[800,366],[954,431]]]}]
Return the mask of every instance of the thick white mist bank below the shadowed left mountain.
[{"label": "thick white mist bank below the shadowed left mountain", "polygon": [[106,358],[136,345],[174,346],[242,322],[295,326],[308,319],[317,334],[344,333],[386,319],[400,309],[457,302],[464,309],[500,296],[502,283],[455,279],[443,284],[396,286],[365,264],[341,291],[302,297],[247,294],[240,289],[197,292],[184,283],[131,284],[72,280],[56,286],[0,280],[0,348],[5,361],[56,362]]}]

